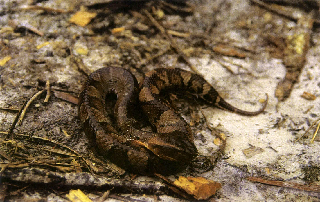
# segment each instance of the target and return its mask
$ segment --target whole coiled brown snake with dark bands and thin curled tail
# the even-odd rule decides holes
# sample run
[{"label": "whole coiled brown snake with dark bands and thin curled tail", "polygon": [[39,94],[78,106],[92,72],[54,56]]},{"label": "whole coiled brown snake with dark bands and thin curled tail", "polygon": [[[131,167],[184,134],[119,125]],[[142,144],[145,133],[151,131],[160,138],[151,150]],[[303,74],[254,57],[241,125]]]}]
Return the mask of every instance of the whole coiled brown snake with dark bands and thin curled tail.
[{"label": "whole coiled brown snake with dark bands and thin curled tail", "polygon": [[[172,91],[243,115],[263,112],[268,102],[267,95],[258,111],[240,110],[225,102],[203,77],[179,68],[152,70],[139,87],[128,70],[104,67],[89,75],[79,96],[79,117],[89,142],[103,157],[133,173],[169,175],[182,170],[198,152],[188,123],[160,99]],[[111,94],[116,95],[113,116],[106,110]],[[139,129],[133,115],[138,108],[156,132]]]}]

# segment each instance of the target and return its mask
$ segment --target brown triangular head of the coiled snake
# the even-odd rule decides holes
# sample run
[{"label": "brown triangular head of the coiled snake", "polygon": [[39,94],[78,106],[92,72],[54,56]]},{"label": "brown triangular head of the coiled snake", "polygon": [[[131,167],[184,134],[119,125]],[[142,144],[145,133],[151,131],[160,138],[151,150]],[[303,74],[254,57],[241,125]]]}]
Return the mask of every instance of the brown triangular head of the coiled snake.
[{"label": "brown triangular head of the coiled snake", "polygon": [[149,139],[146,147],[161,159],[169,161],[188,162],[198,155],[193,141],[180,131],[160,133]]}]

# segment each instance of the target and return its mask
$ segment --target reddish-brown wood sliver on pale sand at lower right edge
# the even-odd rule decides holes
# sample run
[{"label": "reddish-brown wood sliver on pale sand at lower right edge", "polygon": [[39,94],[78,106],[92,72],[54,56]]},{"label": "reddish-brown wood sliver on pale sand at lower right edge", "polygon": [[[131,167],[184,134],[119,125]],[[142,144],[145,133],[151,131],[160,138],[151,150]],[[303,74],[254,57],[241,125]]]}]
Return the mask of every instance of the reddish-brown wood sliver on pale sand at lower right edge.
[{"label": "reddish-brown wood sliver on pale sand at lower right edge", "polygon": [[273,185],[278,187],[286,187],[286,188],[292,188],[292,189],[298,189],[298,190],[320,192],[319,185],[306,185],[306,184],[298,184],[298,183],[292,183],[292,182],[283,182],[278,180],[264,180],[258,177],[247,177],[246,179],[253,182],[259,182],[262,184]]}]

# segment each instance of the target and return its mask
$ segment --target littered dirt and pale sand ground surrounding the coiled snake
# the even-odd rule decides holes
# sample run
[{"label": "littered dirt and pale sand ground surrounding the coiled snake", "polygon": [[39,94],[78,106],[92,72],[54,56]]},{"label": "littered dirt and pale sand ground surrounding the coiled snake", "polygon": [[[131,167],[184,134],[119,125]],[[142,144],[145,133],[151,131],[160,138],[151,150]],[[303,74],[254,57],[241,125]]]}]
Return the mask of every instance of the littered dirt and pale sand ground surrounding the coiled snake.
[{"label": "littered dirt and pale sand ground surrounding the coiled snake", "polygon": [[[89,198],[108,190],[54,183],[38,186],[31,181],[23,183],[22,178],[10,180],[6,170],[17,175],[31,168],[61,175],[91,171],[101,179],[131,180],[130,174],[112,170],[106,160],[91,151],[77,105],[66,101],[66,95],[62,96],[64,99],[55,96],[65,92],[77,97],[86,73],[107,65],[127,68],[138,80],[157,67],[196,71],[226,101],[248,111],[259,109],[260,99],[268,93],[265,112],[252,117],[192,99],[185,101],[180,95],[168,96],[174,108],[191,121],[199,155],[206,157],[200,161],[203,166],[191,164],[170,179],[199,176],[221,183],[222,189],[211,201],[320,200],[319,191],[269,186],[246,179],[254,176],[320,185],[319,135],[310,143],[317,124],[296,141],[320,116],[318,24],[311,29],[310,47],[298,82],[290,97],[278,103],[275,89],[286,71],[282,63],[285,40],[292,35],[297,21],[246,0],[194,0],[188,4],[96,2],[0,1],[0,63],[8,60],[0,66],[0,107],[15,109],[0,111],[2,200],[68,201],[66,194],[71,189],[82,188]],[[52,12],[48,8],[60,10]],[[306,4],[287,8],[296,16],[310,11]],[[69,21],[80,10],[96,14],[83,27]],[[161,26],[152,22],[148,14]],[[166,31],[162,32],[161,27]],[[5,138],[20,107],[44,89],[46,81],[51,86],[48,103],[43,103],[44,92],[29,106],[22,124],[16,125],[13,139]],[[301,97],[304,92],[315,99]],[[215,139],[220,133],[227,138],[225,148],[217,155]],[[137,176],[133,181],[165,186],[160,179],[151,177]],[[149,195],[114,190],[105,201],[185,201],[177,194],[159,190],[145,192]]]}]

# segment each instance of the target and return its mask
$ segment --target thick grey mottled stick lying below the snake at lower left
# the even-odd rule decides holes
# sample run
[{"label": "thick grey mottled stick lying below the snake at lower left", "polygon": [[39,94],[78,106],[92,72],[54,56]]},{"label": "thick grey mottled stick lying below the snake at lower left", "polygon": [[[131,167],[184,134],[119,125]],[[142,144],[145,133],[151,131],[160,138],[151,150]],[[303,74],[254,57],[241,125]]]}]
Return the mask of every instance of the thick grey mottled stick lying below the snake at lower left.
[{"label": "thick grey mottled stick lying below the snake at lower left", "polygon": [[161,182],[112,179],[91,173],[60,173],[42,168],[6,169],[1,176],[2,182],[32,183],[42,186],[82,187],[94,190],[163,195],[169,193],[168,187]]}]

